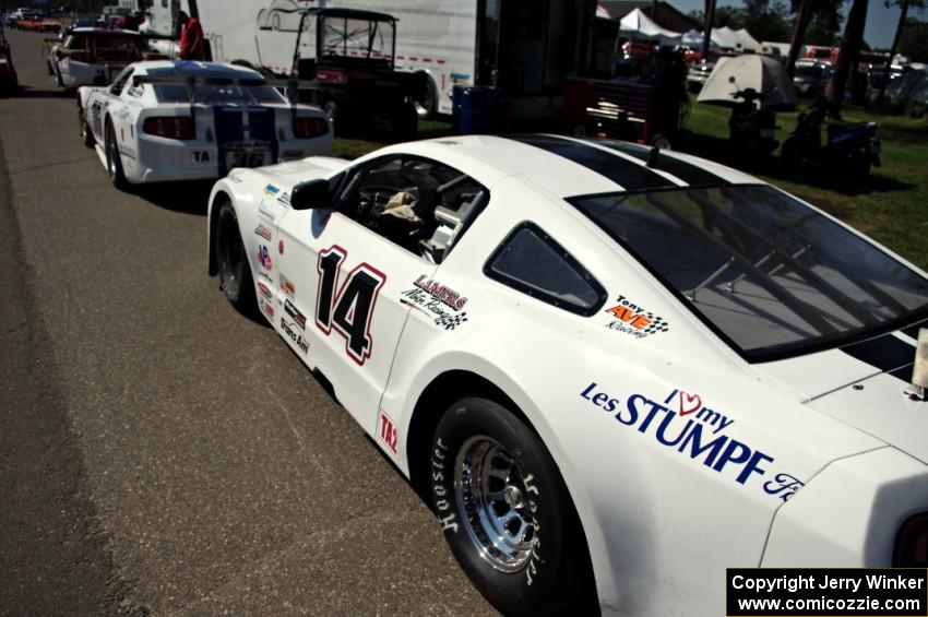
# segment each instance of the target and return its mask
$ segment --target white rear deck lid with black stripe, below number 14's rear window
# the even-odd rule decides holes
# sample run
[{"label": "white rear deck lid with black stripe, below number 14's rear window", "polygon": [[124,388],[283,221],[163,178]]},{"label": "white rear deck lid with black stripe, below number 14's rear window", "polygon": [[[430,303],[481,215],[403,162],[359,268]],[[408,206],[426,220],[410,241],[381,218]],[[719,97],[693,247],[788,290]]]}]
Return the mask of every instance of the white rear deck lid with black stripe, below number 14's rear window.
[{"label": "white rear deck lid with black stripe, below number 14's rear window", "polygon": [[905,393],[914,360],[915,340],[894,332],[757,368],[811,410],[928,464],[928,402]]}]

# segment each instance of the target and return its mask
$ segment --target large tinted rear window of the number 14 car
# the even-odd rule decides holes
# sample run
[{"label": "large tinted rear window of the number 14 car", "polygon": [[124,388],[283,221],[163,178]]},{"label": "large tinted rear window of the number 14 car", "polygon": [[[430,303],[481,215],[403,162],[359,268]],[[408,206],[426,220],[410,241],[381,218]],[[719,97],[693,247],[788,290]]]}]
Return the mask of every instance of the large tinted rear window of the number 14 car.
[{"label": "large tinted rear window of the number 14 car", "polygon": [[903,322],[928,306],[928,280],[772,187],[570,201],[751,361]]}]

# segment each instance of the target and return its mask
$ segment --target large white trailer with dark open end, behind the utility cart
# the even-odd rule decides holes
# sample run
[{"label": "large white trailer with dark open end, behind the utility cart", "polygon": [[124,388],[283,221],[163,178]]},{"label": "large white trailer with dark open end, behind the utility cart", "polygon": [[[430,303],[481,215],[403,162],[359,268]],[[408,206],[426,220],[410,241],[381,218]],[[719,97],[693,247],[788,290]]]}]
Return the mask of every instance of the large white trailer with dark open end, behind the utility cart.
[{"label": "large white trailer with dark open end, behind the utility cart", "polygon": [[[152,12],[170,14],[177,3],[153,0]],[[513,115],[544,115],[560,109],[564,78],[588,67],[596,2],[182,0],[181,8],[199,16],[214,60],[245,60],[282,75],[293,70],[299,9],[389,12],[398,19],[396,68],[429,78],[431,100],[420,102],[421,112],[451,114],[460,84],[498,86]],[[313,39],[302,36],[302,58],[313,57]]]}]

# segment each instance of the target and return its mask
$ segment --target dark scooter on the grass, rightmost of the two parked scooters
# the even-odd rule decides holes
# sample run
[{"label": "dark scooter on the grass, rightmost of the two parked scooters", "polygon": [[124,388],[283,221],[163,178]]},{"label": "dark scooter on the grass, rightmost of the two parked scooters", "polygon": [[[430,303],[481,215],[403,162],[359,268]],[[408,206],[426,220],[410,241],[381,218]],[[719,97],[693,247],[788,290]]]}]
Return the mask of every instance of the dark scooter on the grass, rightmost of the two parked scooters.
[{"label": "dark scooter on the grass, rightmost of the two parked scooters", "polygon": [[789,163],[814,161],[841,167],[848,176],[870,174],[870,166],[880,166],[880,140],[876,122],[832,123],[825,129],[828,142],[822,145],[821,126],[828,103],[817,100],[808,114],[800,114],[796,129],[783,142],[780,156]]}]

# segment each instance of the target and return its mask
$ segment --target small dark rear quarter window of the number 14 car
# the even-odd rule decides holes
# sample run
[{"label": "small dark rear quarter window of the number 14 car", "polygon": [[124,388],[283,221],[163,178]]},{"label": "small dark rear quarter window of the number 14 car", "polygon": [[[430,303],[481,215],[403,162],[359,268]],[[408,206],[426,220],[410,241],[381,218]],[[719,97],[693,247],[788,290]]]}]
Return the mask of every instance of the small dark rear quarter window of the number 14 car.
[{"label": "small dark rear quarter window of the number 14 car", "polygon": [[606,301],[606,290],[593,275],[534,223],[522,223],[509,234],[487,260],[484,274],[585,317]]}]

